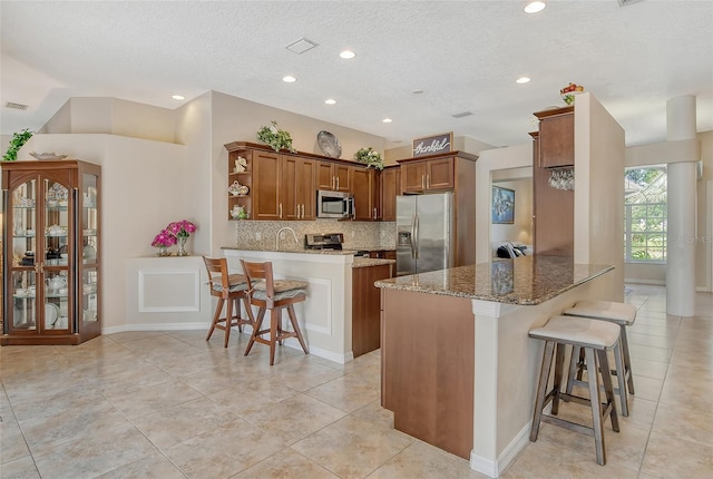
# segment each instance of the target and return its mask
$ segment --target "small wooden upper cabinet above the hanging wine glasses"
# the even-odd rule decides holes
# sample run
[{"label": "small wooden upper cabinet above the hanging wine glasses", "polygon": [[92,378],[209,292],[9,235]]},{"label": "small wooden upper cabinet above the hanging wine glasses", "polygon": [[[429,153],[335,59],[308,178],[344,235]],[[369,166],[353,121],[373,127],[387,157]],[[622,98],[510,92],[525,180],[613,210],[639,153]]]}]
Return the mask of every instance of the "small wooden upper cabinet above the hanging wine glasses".
[{"label": "small wooden upper cabinet above the hanging wine glasses", "polygon": [[558,168],[575,164],[575,107],[538,111],[539,151],[536,165]]}]

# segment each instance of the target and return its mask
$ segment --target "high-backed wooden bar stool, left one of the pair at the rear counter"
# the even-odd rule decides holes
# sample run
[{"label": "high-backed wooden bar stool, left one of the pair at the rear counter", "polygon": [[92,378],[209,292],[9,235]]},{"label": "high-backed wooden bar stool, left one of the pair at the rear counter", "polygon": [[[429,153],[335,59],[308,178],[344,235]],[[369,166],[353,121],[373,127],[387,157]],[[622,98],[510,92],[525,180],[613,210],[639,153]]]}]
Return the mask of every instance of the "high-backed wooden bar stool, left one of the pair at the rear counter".
[{"label": "high-backed wooden bar stool, left one of the pair at the rear counter", "polygon": [[[247,303],[247,280],[242,274],[228,274],[227,260],[208,258],[203,256],[206,270],[208,270],[208,286],[211,286],[211,295],[218,299],[218,304],[215,307],[215,314],[213,315],[213,322],[211,323],[211,330],[205,338],[206,341],[211,339],[213,331],[225,331],[224,346],[227,348],[227,343],[231,339],[231,328],[237,326],[238,331],[243,332],[243,324],[252,325],[252,321],[241,316],[241,300],[245,303],[245,310],[250,312],[250,304]],[[223,305],[227,302],[227,312],[225,317],[221,317],[223,313]]]}]

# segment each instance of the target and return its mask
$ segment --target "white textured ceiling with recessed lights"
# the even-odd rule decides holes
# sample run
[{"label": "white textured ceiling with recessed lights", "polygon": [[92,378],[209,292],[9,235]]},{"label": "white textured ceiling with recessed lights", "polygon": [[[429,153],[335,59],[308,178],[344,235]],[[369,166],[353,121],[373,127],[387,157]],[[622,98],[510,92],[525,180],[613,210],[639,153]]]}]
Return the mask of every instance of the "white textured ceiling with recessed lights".
[{"label": "white textured ceiling with recessed lights", "polygon": [[[2,1],[0,133],[40,128],[74,96],[176,108],[173,94],[217,90],[389,147],[451,130],[507,146],[528,141],[533,111],[564,105],[569,81],[604,104],[627,145],[664,140],[666,101],[681,95],[697,97],[699,131],[713,129],[713,1],[550,1],[534,16],[524,6]],[[302,37],[319,46],[285,49]],[[356,58],[339,58],[344,48]],[[533,81],[516,85],[524,75]],[[473,115],[452,118],[463,111]]]}]

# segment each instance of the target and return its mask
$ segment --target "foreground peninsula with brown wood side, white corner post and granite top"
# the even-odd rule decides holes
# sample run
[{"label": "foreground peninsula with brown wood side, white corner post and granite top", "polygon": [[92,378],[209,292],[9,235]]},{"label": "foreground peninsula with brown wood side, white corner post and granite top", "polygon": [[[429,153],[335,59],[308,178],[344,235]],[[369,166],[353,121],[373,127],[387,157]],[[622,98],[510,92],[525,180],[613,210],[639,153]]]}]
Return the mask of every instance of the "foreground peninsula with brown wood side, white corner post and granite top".
[{"label": "foreground peninsula with brown wood side, white corner post and granite top", "polygon": [[394,428],[498,477],[528,441],[541,358],[528,331],[578,300],[611,300],[613,270],[529,256],[378,281]]}]

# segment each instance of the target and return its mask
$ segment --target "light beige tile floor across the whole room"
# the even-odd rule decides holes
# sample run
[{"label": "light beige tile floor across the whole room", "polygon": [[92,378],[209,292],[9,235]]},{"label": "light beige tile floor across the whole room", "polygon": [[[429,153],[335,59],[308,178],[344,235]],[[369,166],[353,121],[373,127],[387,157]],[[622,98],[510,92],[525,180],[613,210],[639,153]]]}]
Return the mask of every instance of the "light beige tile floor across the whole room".
[{"label": "light beige tile floor across the whole room", "polygon": [[[592,438],[543,424],[502,478],[712,477],[713,295],[697,293],[696,316],[681,319],[666,315],[663,287],[626,291],[636,395],[618,434],[606,424],[607,465]],[[281,348],[271,368],[265,346],[243,356],[245,336],[224,349],[219,332],[204,334],[1,348],[0,477],[484,477],[393,429],[379,352],[339,365]]]}]

